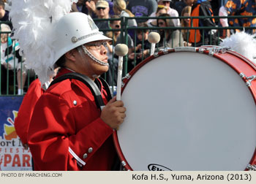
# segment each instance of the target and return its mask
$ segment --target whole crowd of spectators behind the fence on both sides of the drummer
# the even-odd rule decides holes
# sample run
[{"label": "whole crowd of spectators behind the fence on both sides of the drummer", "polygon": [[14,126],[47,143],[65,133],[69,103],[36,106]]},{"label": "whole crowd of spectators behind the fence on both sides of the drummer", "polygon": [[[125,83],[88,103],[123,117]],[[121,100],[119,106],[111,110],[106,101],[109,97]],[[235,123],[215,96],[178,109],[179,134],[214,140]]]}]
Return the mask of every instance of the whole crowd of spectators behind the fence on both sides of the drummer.
[{"label": "whole crowd of spectators behind the fence on both sides of the drummer", "polygon": [[[127,37],[129,53],[129,69],[140,63],[148,56],[150,43],[147,40],[150,31],[158,31],[161,40],[157,47],[200,46],[217,45],[219,38],[217,30],[212,27],[231,27],[219,30],[222,38],[230,37],[238,28],[232,26],[255,27],[256,18],[204,18],[192,19],[193,16],[230,16],[230,15],[256,15],[256,2],[254,0],[78,0],[72,5],[73,12],[83,12],[94,19],[98,28],[113,39],[108,43],[110,72],[108,74],[110,84],[116,85],[115,74],[118,57],[113,49],[118,43],[124,42]],[[8,21],[11,8],[11,0],[0,0],[0,21]],[[121,32],[121,19],[128,17],[128,35]],[[160,17],[160,18],[159,18]],[[112,20],[112,19],[119,20]],[[134,19],[132,19],[134,18]],[[101,20],[102,19],[102,20]],[[12,28],[12,25],[9,25]],[[209,29],[189,29],[194,26],[209,26]],[[138,29],[143,27],[143,29]],[[132,29],[136,28],[136,29]],[[112,30],[112,31],[111,31]],[[1,30],[2,31],[2,30]],[[245,30],[255,33],[255,29]],[[3,44],[3,42],[1,42]],[[4,54],[1,46],[1,55]],[[5,54],[6,55],[6,54]],[[7,69],[4,57],[1,58],[1,70]],[[21,62],[21,61],[20,61]],[[21,62],[22,63],[22,62]],[[18,72],[18,69],[16,71]],[[15,69],[11,69],[15,71]],[[26,69],[23,83],[26,81]],[[129,72],[129,71],[128,71]],[[5,80],[1,72],[1,80]],[[22,75],[20,75],[22,76]],[[20,78],[20,77],[19,77]],[[23,84],[19,88],[23,89]],[[4,89],[4,88],[1,88]],[[6,89],[5,89],[6,90]],[[6,91],[1,91],[5,93]],[[18,92],[20,93],[20,91]]]}]

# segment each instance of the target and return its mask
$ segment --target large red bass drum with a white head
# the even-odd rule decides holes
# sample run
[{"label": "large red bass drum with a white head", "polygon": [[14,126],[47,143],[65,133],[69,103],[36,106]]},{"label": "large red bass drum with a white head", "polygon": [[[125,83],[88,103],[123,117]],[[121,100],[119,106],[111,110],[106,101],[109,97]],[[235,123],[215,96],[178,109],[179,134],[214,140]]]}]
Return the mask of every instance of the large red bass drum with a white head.
[{"label": "large red bass drum with a white head", "polygon": [[124,79],[114,133],[127,170],[255,169],[256,66],[220,47],[155,53]]}]

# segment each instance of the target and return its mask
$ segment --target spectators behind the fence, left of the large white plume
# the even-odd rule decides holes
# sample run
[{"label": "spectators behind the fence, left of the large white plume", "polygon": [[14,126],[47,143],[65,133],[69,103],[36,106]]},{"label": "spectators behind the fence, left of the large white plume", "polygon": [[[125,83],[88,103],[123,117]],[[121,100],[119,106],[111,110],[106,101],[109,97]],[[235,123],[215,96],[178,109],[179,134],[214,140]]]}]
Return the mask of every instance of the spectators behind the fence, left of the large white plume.
[{"label": "spectators behind the fence, left of the large white plume", "polygon": [[[18,95],[22,95],[29,70],[23,65],[25,58],[19,54],[20,46],[17,40],[11,37],[12,23],[9,18],[11,4],[11,0],[0,0],[1,94],[18,93]],[[15,85],[18,88],[16,92],[14,91]]]}]

